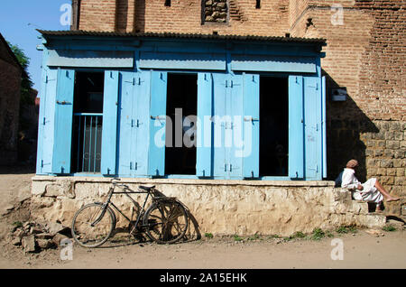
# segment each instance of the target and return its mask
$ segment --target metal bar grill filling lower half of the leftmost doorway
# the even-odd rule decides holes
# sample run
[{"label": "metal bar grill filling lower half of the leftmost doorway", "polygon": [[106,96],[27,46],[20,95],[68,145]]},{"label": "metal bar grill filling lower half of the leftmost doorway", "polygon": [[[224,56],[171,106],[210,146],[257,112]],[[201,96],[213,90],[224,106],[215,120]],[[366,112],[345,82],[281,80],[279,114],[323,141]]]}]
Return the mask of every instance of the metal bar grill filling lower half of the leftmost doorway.
[{"label": "metal bar grill filling lower half of the leftmost doorway", "polygon": [[100,172],[103,114],[74,114],[76,172]]}]

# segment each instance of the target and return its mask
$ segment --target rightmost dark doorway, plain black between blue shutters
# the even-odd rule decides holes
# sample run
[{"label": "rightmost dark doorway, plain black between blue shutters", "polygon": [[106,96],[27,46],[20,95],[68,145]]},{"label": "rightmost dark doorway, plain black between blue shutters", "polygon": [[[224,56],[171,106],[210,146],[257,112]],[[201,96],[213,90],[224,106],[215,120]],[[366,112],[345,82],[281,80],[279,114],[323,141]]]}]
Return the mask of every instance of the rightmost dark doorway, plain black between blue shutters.
[{"label": "rightmost dark doorway, plain black between blue shutters", "polygon": [[289,82],[260,79],[260,176],[287,176],[289,151]]}]

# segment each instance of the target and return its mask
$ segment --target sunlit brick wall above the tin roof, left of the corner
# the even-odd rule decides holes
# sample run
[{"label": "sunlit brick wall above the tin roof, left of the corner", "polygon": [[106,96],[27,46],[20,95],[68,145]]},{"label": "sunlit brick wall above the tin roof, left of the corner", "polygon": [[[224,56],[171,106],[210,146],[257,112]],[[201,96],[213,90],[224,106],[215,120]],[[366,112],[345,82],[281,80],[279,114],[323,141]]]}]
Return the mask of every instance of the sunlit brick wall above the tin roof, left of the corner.
[{"label": "sunlit brick wall above the tin roof, left of the corner", "polygon": [[[212,0],[207,0],[210,2]],[[284,0],[227,0],[227,23],[202,24],[201,0],[82,0],[79,29],[106,32],[201,32],[283,36],[289,30],[289,3]],[[134,9],[135,8],[135,9]],[[116,15],[116,17],[115,17]]]}]

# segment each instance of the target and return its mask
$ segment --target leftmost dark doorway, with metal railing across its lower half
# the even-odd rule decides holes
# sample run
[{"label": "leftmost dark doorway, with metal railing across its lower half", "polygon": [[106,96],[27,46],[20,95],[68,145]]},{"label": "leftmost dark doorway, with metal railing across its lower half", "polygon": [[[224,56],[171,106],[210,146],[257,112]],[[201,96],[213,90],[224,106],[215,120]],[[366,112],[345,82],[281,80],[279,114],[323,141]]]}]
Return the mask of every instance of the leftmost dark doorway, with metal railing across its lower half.
[{"label": "leftmost dark doorway, with metal railing across its lower half", "polygon": [[73,101],[72,172],[100,172],[103,72],[77,72]]}]

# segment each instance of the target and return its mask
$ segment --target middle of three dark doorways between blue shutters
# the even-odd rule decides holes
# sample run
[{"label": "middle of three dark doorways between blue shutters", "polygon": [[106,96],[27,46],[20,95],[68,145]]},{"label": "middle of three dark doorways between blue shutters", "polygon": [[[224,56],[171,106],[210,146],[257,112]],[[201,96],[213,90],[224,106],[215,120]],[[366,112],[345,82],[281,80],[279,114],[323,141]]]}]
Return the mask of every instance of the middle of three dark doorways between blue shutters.
[{"label": "middle of three dark doorways between blue shutters", "polygon": [[[196,128],[198,75],[168,75],[165,173],[196,174]],[[185,135],[186,134],[186,135]],[[186,141],[184,140],[186,139]]]}]

